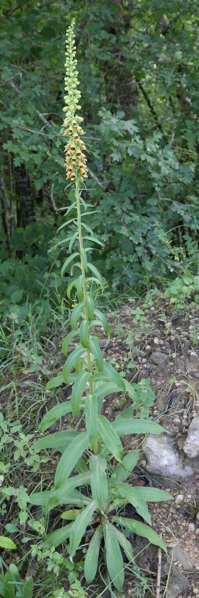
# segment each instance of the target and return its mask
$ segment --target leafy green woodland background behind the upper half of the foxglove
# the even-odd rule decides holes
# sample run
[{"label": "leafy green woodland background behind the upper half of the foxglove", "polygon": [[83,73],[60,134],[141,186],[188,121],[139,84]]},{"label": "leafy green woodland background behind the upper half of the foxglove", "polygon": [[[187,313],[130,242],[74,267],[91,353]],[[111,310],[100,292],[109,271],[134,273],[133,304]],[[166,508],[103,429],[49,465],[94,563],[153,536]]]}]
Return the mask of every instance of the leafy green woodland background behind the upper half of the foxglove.
[{"label": "leafy green woodland background behind the upper half of the foxglove", "polygon": [[[29,303],[39,314],[44,287],[48,319],[52,297],[56,301],[66,289],[59,275],[62,249],[50,254],[48,249],[62,239],[62,231],[56,235],[61,223],[56,208],[72,199],[63,191],[62,138],[65,32],[72,17],[90,169],[84,199],[101,210],[90,225],[105,246],[91,259],[122,292],[142,293],[154,280],[160,286],[184,271],[197,274],[198,2],[5,0],[0,33],[5,316],[26,315]],[[20,167],[29,179],[26,213]]]}]

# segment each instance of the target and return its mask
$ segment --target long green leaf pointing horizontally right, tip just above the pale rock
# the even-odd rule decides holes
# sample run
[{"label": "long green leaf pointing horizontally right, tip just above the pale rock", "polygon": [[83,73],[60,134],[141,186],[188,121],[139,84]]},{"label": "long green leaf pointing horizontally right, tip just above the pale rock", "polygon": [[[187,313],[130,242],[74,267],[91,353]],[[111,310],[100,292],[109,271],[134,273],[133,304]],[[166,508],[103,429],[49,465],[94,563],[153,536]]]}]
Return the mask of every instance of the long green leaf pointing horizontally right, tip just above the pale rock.
[{"label": "long green leaf pointing horizontally right, tip just above the pale rock", "polygon": [[165,432],[164,428],[158,423],[150,422],[147,419],[115,419],[112,422],[114,430],[119,436],[125,434],[162,434]]}]

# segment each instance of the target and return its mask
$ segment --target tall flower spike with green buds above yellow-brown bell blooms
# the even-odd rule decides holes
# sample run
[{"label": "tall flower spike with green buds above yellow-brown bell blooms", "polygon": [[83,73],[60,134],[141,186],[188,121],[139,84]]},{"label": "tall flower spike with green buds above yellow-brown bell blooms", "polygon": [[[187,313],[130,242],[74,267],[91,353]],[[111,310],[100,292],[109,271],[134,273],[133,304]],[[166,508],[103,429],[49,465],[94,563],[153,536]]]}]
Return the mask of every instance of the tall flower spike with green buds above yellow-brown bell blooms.
[{"label": "tall flower spike with green buds above yellow-brown bell blooms", "polygon": [[81,93],[78,90],[79,81],[77,78],[78,71],[76,71],[75,59],[75,35],[74,35],[75,19],[72,20],[71,26],[66,31],[66,77],[65,77],[65,91],[68,92],[64,96],[65,106],[63,112],[66,112],[63,126],[66,127],[64,135],[70,135],[68,144],[65,146],[66,152],[66,178],[71,178],[75,181],[76,175],[79,175],[80,181],[83,177],[87,177],[87,167],[85,165],[87,159],[83,154],[85,149],[84,142],[79,135],[84,135],[84,131],[79,123],[84,120],[81,116],[76,115],[76,110],[81,110],[79,100]]}]

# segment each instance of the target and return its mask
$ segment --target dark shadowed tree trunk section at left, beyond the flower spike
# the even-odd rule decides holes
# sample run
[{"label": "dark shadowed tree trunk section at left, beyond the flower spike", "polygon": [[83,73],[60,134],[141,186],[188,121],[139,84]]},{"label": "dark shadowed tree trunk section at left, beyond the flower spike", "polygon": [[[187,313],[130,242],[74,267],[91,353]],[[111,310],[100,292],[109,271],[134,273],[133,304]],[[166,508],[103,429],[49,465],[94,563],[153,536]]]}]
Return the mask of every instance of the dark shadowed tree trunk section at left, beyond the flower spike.
[{"label": "dark shadowed tree trunk section at left, beyond the flower spike", "polygon": [[17,225],[25,228],[27,224],[36,220],[30,177],[24,163],[17,166],[15,172],[16,192],[20,200],[20,206],[17,208]]}]

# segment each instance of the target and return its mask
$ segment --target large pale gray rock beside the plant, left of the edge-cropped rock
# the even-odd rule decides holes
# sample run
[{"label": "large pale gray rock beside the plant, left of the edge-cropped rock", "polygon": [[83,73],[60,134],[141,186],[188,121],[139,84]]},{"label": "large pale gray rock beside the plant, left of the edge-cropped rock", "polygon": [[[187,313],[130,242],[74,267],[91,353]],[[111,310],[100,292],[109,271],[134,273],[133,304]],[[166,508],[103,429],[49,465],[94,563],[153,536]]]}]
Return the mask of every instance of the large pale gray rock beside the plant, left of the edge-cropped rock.
[{"label": "large pale gray rock beside the plant, left of the edge-cropped rock", "polygon": [[191,466],[183,467],[182,460],[173,446],[173,440],[166,434],[158,437],[155,434],[148,434],[142,443],[142,448],[147,459],[146,470],[151,474],[172,480],[183,480],[194,473]]}]

